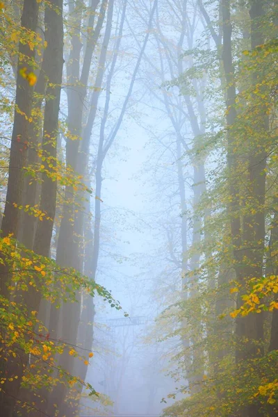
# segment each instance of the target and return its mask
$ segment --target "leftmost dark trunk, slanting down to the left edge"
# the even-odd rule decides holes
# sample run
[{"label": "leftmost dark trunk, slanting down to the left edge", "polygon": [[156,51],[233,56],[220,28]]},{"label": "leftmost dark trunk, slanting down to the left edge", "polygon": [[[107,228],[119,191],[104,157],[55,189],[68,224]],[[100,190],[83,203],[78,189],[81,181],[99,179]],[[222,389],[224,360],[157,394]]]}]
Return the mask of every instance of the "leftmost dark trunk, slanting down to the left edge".
[{"label": "leftmost dark trunk, slanting down to the left edge", "polygon": [[[24,1],[22,10],[22,28],[27,31],[35,32],[38,23],[38,2],[36,0]],[[17,89],[15,95],[15,116],[13,124],[12,142],[10,146],[10,163],[8,170],[8,189],[6,195],[6,205],[3,213],[1,224],[2,237],[12,234],[17,238],[19,231],[19,209],[17,206],[22,203],[22,191],[24,184],[24,165],[26,164],[26,155],[28,147],[28,129],[31,123],[31,107],[33,101],[33,85],[29,83],[28,78],[22,76],[24,68],[25,74],[34,71],[33,63],[35,51],[32,50],[28,43],[19,42],[19,60],[17,63]],[[0,263],[1,278],[1,295],[9,297],[8,284],[10,281],[9,268],[6,260]],[[3,335],[4,336],[4,335]],[[6,383],[3,384],[0,395],[0,409],[3,416],[12,417],[13,409],[17,401],[19,384],[17,379],[18,363],[15,358],[8,357],[4,361],[1,357],[0,370],[1,375],[6,374]],[[19,366],[20,367],[20,366]],[[12,380],[9,381],[8,378]]]}]

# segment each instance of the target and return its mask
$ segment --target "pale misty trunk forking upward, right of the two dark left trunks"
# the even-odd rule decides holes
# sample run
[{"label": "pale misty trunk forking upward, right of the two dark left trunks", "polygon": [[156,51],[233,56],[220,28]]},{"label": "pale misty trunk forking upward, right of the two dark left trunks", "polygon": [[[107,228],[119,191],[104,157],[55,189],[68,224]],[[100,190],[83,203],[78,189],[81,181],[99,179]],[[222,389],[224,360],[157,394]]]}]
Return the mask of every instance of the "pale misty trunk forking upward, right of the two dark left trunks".
[{"label": "pale misty trunk forking upward, right of the two dark left trunks", "polygon": [[[79,80],[79,63],[80,63],[80,42],[79,35],[81,30],[81,20],[76,25],[76,30],[72,37],[72,50],[67,65],[67,79],[70,83],[77,84],[76,88],[70,88],[67,91],[68,101],[68,129],[70,131],[70,138],[67,138],[67,152],[66,163],[67,167],[71,167],[76,170],[79,140],[72,140],[72,138],[81,138],[81,126],[83,119],[83,108],[86,90],[88,86],[88,76],[90,73],[90,64],[92,60],[92,54],[99,38],[99,33],[104,22],[105,11],[108,0],[102,0],[101,9],[99,12],[99,19],[97,25],[93,31],[92,38],[89,38],[86,44],[85,56],[83,60],[83,67],[81,71],[81,78]],[[89,19],[90,28],[94,24],[95,10],[97,8],[97,1],[92,1],[92,14]],[[75,10],[72,10],[75,13]],[[81,17],[80,17],[81,19]],[[77,38],[77,39],[76,39]],[[68,186],[65,188],[65,204],[63,205],[63,218],[60,224],[56,261],[61,266],[73,266],[72,265],[72,252],[74,241],[74,228],[71,218],[74,218],[74,204],[73,204],[73,189]],[[70,202],[71,201],[71,202]],[[61,309],[56,308],[56,304],[52,304],[51,313],[49,318],[49,331],[53,338],[58,336],[58,324],[60,322]]]}]

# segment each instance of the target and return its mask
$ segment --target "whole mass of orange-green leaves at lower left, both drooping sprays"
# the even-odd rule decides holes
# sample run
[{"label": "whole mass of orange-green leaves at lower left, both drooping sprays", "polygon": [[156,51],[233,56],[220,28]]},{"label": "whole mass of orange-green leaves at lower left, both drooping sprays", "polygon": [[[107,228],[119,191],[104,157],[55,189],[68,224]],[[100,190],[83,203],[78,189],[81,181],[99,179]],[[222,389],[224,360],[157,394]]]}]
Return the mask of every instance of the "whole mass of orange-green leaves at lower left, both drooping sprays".
[{"label": "whole mass of orange-green leaves at lower left, both drooping sprays", "polygon": [[[55,302],[57,307],[61,302],[75,302],[76,293],[80,291],[92,297],[97,293],[117,310],[122,309],[119,302],[113,299],[106,288],[99,286],[95,281],[81,275],[73,268],[60,268],[52,259],[27,250],[12,236],[1,238],[0,250],[1,262],[3,263],[3,259],[6,260],[11,274],[9,290],[12,300],[7,300],[3,296],[0,298],[0,357],[5,361],[10,358],[19,360],[22,354],[30,357],[22,378],[22,386],[25,388],[34,390],[44,386],[52,389],[63,381],[63,384],[69,386],[81,385],[89,390],[90,395],[96,395],[90,384],[70,375],[58,365],[58,357],[63,352],[68,352],[70,356],[88,365],[89,359],[93,356],[92,352],[52,339],[49,330],[38,319],[38,311],[28,311],[26,307],[20,305],[20,297],[33,288],[33,291],[40,292],[48,302]],[[17,377],[13,375],[9,381]],[[3,370],[0,378],[1,386],[5,382],[6,376]],[[3,389],[1,386],[0,389]]]}]

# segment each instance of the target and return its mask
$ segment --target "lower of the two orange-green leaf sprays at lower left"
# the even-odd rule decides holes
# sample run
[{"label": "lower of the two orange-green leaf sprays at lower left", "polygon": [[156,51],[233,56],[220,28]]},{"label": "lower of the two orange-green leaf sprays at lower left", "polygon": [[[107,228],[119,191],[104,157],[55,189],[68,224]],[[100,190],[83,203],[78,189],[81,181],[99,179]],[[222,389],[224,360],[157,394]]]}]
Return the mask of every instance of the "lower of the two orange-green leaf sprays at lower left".
[{"label": "lower of the two orange-green leaf sprays at lower left", "polygon": [[[63,341],[56,341],[49,337],[49,332],[44,325],[38,320],[37,311],[31,311],[29,314],[22,306],[18,306],[16,302],[8,302],[1,296],[0,299],[1,312],[1,357],[8,361],[10,357],[20,360],[22,354],[28,354],[31,358],[28,368],[26,368],[23,377],[23,386],[32,388],[36,386],[51,387],[58,384],[60,379],[58,376],[66,378],[66,382],[74,384],[78,379],[72,375],[65,373],[63,368],[58,366],[55,359],[57,354],[63,354],[67,351],[73,357],[84,361],[88,364],[93,354],[89,352],[87,356],[81,355],[77,350]],[[42,373],[42,366],[47,366],[47,374]],[[53,374],[56,370],[57,379],[54,380]],[[2,373],[0,384],[6,382],[5,372]],[[17,375],[11,377],[17,379]],[[9,379],[10,381],[12,379]],[[79,380],[80,383],[83,384]],[[1,389],[1,387],[0,387]]]}]

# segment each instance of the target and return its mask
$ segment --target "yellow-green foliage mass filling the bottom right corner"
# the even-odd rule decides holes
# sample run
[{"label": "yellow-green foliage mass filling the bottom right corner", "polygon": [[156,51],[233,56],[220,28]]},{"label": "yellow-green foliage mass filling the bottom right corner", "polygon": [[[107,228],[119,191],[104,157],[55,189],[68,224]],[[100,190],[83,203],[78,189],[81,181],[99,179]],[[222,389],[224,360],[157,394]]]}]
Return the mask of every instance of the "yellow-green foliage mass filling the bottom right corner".
[{"label": "yellow-green foliage mass filling the bottom right corner", "polygon": [[164,415],[238,416],[243,407],[254,402],[259,404],[262,415],[268,415],[268,411],[273,411],[278,400],[277,373],[272,366],[277,359],[277,352],[270,352],[263,358],[236,365],[231,357],[226,357],[221,363],[217,363],[217,374],[204,375],[202,382],[198,384],[199,392],[193,393],[192,387],[182,386],[168,395],[168,398],[176,398],[181,393],[186,398],[166,407]]}]

